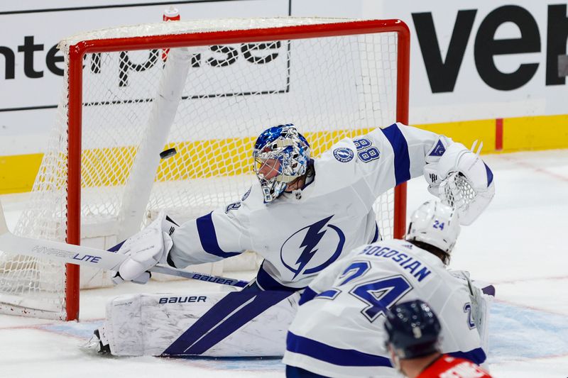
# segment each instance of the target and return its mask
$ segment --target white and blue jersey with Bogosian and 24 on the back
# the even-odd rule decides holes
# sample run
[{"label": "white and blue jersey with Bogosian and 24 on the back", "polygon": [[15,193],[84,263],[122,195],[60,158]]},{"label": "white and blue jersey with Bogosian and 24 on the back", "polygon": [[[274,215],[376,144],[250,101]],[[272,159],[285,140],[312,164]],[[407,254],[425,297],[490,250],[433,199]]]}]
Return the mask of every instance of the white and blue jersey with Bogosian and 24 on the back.
[{"label": "white and blue jersey with Bogosian and 24 on the back", "polygon": [[481,365],[468,281],[405,240],[364,245],[305,289],[288,329],[286,365],[325,377],[400,377],[385,348],[386,308],[421,299],[442,325],[442,351]]}]

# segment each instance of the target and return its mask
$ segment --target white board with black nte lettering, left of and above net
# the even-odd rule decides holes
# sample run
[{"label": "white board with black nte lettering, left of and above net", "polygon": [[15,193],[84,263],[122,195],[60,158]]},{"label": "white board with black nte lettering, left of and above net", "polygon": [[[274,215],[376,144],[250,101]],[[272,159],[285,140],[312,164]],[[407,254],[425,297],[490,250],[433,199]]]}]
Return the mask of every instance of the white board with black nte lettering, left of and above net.
[{"label": "white board with black nte lettering, left of and above net", "polygon": [[[0,6],[0,156],[43,152],[62,90],[63,57],[57,49],[62,38],[87,30],[159,22],[171,4],[185,20],[288,16],[290,12],[288,0],[8,3]],[[132,64],[136,59],[141,58],[133,57]]]}]

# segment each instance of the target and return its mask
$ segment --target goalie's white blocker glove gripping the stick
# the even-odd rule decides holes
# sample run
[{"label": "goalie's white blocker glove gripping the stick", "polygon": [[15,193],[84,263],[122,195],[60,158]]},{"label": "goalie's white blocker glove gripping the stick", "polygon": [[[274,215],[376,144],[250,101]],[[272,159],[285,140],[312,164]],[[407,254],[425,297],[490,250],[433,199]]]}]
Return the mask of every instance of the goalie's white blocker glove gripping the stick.
[{"label": "goalie's white blocker glove gripping the stick", "polygon": [[127,255],[128,258],[119,267],[114,275],[113,282],[132,281],[146,284],[151,274],[148,269],[154,265],[167,264],[168,252],[173,246],[170,233],[163,228],[169,228],[169,221],[165,220],[165,213],[160,213],[148,227],[136,235],[128,238],[117,253]]}]

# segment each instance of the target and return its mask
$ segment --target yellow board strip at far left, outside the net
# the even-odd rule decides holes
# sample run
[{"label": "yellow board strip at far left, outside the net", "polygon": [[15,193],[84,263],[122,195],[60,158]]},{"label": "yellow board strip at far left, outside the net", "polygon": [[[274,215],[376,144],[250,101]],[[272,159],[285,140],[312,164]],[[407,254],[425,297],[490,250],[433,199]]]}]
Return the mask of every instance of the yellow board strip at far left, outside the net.
[{"label": "yellow board strip at far left, outside the net", "polygon": [[0,156],[0,194],[31,191],[43,154]]}]

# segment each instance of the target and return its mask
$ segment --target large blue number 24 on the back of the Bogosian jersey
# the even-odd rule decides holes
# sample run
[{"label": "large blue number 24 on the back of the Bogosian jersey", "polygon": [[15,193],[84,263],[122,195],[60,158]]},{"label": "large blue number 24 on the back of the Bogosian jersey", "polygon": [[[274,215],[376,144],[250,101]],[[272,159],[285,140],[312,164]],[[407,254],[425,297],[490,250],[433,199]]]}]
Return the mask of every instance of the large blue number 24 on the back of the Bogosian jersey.
[{"label": "large blue number 24 on the back of the Bogosian jersey", "polygon": [[[353,262],[339,276],[339,279],[344,280],[337,287],[323,291],[316,298],[335,299],[342,292],[339,287],[344,286],[357,277],[364,276],[369,269],[371,269],[371,263],[368,261]],[[349,294],[367,305],[361,310],[361,313],[368,321],[372,322],[379,316],[384,315],[387,308],[393,306],[412,289],[413,287],[408,280],[403,275],[398,274],[357,284],[349,290]]]}]

